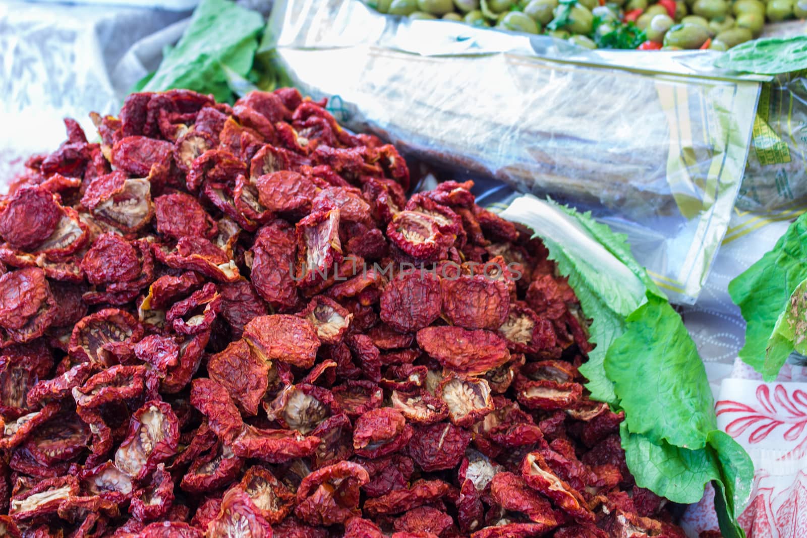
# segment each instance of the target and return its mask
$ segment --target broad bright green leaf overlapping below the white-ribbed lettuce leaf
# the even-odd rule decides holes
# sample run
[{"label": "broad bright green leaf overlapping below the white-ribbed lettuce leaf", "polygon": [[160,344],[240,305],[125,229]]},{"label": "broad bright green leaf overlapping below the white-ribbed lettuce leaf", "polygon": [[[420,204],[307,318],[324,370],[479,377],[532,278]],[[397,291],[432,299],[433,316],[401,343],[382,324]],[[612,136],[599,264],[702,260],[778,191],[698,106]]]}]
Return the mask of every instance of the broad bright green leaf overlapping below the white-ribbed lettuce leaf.
[{"label": "broad bright green leaf overlapping below the white-ribbed lettuce leaf", "polygon": [[628,316],[625,333],[608,348],[604,366],[630,432],[654,443],[696,449],[717,428],[703,362],[667,299],[650,295]]}]

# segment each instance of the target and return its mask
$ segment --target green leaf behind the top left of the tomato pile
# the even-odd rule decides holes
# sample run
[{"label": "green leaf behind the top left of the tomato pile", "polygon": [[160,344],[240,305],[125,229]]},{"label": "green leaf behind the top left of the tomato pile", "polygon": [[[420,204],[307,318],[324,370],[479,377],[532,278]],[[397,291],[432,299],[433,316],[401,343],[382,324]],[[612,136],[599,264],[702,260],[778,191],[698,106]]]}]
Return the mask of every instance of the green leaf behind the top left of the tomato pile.
[{"label": "green leaf behind the top left of the tomato pile", "polygon": [[203,0],[176,47],[162,60],[144,91],[187,88],[231,101],[233,74],[245,77],[253,65],[263,18],[227,0]]}]

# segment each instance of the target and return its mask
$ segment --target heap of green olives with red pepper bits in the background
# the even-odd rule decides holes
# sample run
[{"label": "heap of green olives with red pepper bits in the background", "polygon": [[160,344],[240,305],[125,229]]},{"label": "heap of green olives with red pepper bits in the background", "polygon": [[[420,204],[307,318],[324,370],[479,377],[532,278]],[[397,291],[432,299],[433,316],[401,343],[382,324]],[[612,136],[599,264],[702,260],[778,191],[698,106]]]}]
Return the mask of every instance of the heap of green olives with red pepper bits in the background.
[{"label": "heap of green olives with red pepper bits in the background", "polygon": [[599,38],[608,32],[635,25],[646,40],[629,47],[727,50],[759,37],[766,21],[807,18],[807,0],[607,0],[604,5],[600,0],[366,2],[389,15],[552,35],[586,48],[603,44]]}]

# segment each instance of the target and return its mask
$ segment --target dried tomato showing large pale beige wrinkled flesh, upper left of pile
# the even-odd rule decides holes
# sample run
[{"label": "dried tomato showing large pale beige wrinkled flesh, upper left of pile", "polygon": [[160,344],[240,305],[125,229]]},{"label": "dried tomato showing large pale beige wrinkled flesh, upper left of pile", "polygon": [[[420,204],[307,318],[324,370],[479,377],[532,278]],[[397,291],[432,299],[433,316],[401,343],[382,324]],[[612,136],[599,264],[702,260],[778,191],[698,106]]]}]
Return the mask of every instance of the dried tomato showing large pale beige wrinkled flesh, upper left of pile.
[{"label": "dried tomato showing large pale beige wrinkled flesh, upper left of pile", "polygon": [[96,219],[124,233],[138,231],[154,215],[151,183],[148,178],[130,179],[126,173],[116,170],[90,181],[82,206]]}]

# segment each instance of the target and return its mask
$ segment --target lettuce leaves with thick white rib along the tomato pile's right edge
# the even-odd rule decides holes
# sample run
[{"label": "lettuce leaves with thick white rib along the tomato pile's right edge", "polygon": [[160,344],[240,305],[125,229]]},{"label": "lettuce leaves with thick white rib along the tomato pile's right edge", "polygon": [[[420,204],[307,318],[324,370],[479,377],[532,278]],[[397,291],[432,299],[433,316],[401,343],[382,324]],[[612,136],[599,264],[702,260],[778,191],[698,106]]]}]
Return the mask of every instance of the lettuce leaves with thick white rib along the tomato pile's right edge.
[{"label": "lettuce leaves with thick white rib along the tomato pile's right edge", "polygon": [[529,196],[501,215],[537,231],[592,319],[596,348],[579,370],[592,398],[625,411],[622,446],[638,485],[695,503],[713,482],[723,536],[744,538],[737,515],[751,494],[751,459],[717,430],[696,346],[625,236],[590,214]]}]

